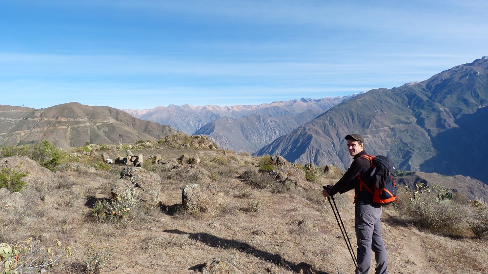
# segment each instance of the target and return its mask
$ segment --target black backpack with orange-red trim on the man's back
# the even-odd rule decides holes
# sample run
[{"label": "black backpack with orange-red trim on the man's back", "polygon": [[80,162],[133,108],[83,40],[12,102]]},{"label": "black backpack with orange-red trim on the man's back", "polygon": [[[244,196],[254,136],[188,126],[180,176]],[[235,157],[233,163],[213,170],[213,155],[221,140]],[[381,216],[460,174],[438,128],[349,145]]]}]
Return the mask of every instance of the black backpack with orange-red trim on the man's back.
[{"label": "black backpack with orange-red trim on the man's back", "polygon": [[[370,156],[361,155],[360,157],[366,158],[371,163],[371,168],[363,176],[358,175],[360,181],[360,191],[368,191],[372,196],[372,202],[376,205],[388,205],[394,202],[398,202],[398,186],[396,184],[396,178],[393,174],[395,167],[393,162],[386,156]],[[372,184],[366,184],[366,182]],[[370,187],[368,187],[368,185]]]}]

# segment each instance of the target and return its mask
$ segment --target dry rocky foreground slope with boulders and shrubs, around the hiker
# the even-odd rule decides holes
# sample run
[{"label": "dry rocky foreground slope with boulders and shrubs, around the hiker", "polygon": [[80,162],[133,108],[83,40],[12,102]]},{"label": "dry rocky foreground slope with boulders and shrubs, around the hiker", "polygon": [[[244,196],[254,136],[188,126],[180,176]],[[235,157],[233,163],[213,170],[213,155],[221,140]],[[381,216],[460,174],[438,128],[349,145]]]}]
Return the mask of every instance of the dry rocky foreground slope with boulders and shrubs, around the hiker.
[{"label": "dry rocky foreground slope with boulders and shrubs, around the hiker", "polygon": [[[32,237],[28,254],[40,250],[38,256],[46,262],[59,258],[43,268],[53,274],[87,273],[95,265],[100,273],[114,274],[223,273],[216,272],[219,266],[233,274],[351,272],[336,219],[320,194],[321,186],[340,174],[320,169],[318,181],[309,182],[303,167],[286,162],[273,163],[271,173],[259,173],[265,157],[185,145],[191,140],[205,138],[180,135],[159,142],[90,145],[89,155],[76,153],[85,148],[74,148],[55,172],[25,156],[1,158],[0,173],[27,175],[21,195],[0,189],[0,243],[21,245]],[[108,165],[96,156],[125,157],[126,149],[143,155],[142,167]],[[199,160],[187,163],[182,155]],[[124,189],[137,193],[141,204],[102,214],[104,203],[132,200],[122,196]],[[402,195],[409,204],[407,194]],[[347,193],[335,201],[354,244],[352,199]],[[463,203],[449,208],[466,210]],[[397,208],[388,206],[383,214],[389,273],[486,272],[487,241],[473,236],[469,227],[457,232],[461,237],[432,233],[414,226]],[[471,218],[451,216],[449,225],[456,228]],[[215,272],[209,271],[212,266]]]}]

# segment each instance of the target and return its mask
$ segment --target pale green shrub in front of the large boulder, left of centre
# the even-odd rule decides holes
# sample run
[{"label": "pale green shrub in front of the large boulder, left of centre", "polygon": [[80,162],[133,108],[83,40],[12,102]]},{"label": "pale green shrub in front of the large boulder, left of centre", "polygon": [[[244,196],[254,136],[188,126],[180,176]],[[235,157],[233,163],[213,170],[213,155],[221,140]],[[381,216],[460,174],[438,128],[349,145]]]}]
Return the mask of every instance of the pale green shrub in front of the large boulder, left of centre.
[{"label": "pale green shrub in front of the large boulder, left of centre", "polygon": [[140,199],[137,192],[125,189],[117,193],[111,200],[97,201],[92,214],[99,222],[128,220],[131,211],[139,207]]}]

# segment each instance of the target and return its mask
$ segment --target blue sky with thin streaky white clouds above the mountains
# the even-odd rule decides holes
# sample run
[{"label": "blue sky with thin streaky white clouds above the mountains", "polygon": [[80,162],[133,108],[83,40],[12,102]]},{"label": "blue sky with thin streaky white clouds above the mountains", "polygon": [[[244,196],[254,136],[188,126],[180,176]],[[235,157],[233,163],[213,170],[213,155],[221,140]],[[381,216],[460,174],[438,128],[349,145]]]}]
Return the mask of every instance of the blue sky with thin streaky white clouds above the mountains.
[{"label": "blue sky with thin streaky white clouds above the mountains", "polygon": [[260,104],[488,55],[488,1],[0,0],[0,104]]}]

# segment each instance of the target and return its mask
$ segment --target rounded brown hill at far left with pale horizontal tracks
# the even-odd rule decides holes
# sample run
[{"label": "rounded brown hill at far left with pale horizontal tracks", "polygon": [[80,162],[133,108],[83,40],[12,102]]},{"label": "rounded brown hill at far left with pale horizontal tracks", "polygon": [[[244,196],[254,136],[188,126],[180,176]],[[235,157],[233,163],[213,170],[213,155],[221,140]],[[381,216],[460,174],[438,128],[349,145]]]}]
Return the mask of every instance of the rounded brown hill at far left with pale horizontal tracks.
[{"label": "rounded brown hill at far left with pale horizontal tracks", "polygon": [[49,140],[69,149],[92,144],[158,140],[176,133],[170,126],[134,118],[111,107],[67,103],[45,109],[0,106],[0,146]]}]

